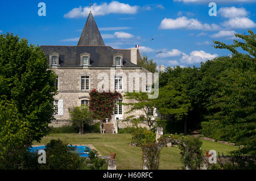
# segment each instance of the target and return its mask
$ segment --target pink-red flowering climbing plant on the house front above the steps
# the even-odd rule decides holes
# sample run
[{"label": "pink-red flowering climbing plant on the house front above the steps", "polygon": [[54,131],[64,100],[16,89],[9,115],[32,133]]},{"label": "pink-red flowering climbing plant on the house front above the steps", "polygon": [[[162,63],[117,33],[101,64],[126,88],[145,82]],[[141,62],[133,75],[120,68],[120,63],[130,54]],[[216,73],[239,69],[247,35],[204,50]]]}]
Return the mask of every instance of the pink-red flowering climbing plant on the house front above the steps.
[{"label": "pink-red flowering climbing plant on the house front above the steps", "polygon": [[89,93],[89,109],[93,111],[94,119],[105,120],[113,116],[115,100],[121,99],[122,95],[115,92],[98,92],[93,89]]}]

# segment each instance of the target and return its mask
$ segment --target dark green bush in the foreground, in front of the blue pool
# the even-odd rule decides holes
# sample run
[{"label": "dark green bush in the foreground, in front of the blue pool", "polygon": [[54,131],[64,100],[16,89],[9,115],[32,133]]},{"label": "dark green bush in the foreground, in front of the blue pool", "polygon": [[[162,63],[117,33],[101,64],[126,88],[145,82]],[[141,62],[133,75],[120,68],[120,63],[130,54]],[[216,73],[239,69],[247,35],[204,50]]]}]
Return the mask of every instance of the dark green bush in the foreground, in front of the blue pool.
[{"label": "dark green bush in the foreground, in front of the blue pool", "polygon": [[46,164],[41,169],[70,170],[82,169],[84,158],[75,153],[75,147],[68,146],[61,140],[51,140],[46,145]]}]

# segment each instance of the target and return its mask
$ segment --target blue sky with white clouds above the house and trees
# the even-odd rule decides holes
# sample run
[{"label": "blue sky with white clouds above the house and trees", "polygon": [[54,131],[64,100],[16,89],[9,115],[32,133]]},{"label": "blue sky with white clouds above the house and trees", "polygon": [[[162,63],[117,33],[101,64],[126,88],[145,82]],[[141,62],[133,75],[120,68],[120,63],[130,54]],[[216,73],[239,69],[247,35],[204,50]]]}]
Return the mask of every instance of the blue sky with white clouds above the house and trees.
[{"label": "blue sky with white clouds above the house and trees", "polygon": [[[46,16],[39,16],[39,2]],[[234,33],[256,32],[256,0],[91,1],[92,14],[106,45],[128,49],[139,44],[142,55],[164,66],[200,66],[228,55],[212,40],[232,44]],[[217,16],[209,16],[209,2]],[[13,32],[36,45],[77,45],[90,1],[5,1],[0,33]],[[153,39],[154,40],[151,40]],[[162,52],[156,54],[157,52]]]}]

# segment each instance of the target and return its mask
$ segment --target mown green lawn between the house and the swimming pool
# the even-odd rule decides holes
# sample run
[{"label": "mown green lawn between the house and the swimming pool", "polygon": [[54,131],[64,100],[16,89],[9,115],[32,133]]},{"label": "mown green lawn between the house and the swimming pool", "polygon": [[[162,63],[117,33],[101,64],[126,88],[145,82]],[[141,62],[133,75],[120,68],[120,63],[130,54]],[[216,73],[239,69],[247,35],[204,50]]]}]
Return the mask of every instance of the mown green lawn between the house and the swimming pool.
[{"label": "mown green lawn between the house and the swimming pool", "polygon": [[[142,169],[142,150],[139,147],[130,146],[130,134],[99,134],[86,133],[79,135],[77,133],[55,133],[48,134],[43,137],[41,142],[33,142],[34,145],[47,144],[52,139],[60,139],[68,142],[68,144],[92,144],[101,155],[109,155],[109,153],[116,153],[117,169]],[[203,141],[202,149],[204,153],[206,150],[216,150],[217,153],[227,154],[228,151],[236,150],[238,147],[224,145],[217,142]],[[182,164],[180,162],[179,148],[163,148],[160,152],[160,169],[180,169]]]}]

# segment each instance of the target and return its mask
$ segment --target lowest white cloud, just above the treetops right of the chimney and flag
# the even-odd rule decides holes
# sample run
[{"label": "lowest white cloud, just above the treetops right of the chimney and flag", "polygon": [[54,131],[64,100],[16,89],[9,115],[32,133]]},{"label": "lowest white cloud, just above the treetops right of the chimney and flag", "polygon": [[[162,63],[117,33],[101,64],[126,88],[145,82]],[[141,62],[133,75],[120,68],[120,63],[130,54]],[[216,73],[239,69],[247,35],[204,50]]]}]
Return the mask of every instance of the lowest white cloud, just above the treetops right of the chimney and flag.
[{"label": "lowest white cloud, just above the treetops right of the chimney and flag", "polygon": [[205,62],[206,60],[212,60],[213,58],[216,58],[218,56],[217,54],[206,53],[203,50],[192,51],[189,55],[182,53],[182,55],[183,56],[180,59],[180,61],[187,64]]}]

